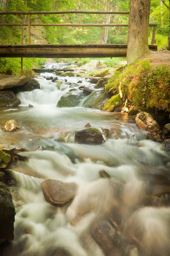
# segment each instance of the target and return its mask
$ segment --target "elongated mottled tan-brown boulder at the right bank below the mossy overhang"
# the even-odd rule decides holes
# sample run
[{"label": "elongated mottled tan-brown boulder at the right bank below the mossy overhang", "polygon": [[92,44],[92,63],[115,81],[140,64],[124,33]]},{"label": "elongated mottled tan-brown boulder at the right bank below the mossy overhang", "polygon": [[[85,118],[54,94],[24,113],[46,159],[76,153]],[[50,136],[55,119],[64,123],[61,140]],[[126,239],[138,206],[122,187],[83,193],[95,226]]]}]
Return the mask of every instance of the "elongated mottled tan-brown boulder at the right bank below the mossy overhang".
[{"label": "elongated mottled tan-brown boulder at the right bank below the mossy overhang", "polygon": [[136,125],[139,129],[147,131],[147,137],[150,140],[161,141],[161,131],[159,124],[153,119],[153,117],[147,112],[140,112],[135,118]]}]

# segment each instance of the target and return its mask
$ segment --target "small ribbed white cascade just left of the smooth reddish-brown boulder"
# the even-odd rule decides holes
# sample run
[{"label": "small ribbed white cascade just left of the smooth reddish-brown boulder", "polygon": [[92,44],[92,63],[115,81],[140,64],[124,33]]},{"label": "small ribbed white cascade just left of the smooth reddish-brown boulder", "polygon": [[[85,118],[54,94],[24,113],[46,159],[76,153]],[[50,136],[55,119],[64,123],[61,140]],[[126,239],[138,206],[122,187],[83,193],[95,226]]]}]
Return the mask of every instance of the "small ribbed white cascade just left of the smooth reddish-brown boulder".
[{"label": "small ribbed white cascade just left of the smooth reddish-brown boulder", "polygon": [[37,192],[41,189],[41,183],[43,179],[28,176],[26,174],[23,174],[21,172],[12,172],[12,175],[14,179],[17,181],[17,183],[22,186],[24,189],[28,189],[34,192]]}]

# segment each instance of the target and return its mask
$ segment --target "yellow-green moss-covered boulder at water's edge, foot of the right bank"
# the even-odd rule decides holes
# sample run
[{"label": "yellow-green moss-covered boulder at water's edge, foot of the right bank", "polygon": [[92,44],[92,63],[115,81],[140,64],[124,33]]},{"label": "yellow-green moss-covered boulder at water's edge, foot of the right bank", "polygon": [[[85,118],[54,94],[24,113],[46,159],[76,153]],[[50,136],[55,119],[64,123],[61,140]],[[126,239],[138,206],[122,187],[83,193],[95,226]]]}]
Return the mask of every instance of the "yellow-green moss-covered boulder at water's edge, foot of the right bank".
[{"label": "yellow-green moss-covered boulder at water's edge, foot of the right bank", "polygon": [[123,100],[120,97],[120,95],[117,94],[112,96],[111,99],[108,99],[107,102],[105,102],[102,110],[108,111],[108,112],[113,112],[113,111],[119,112],[121,111],[122,104],[123,104]]}]

